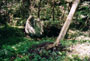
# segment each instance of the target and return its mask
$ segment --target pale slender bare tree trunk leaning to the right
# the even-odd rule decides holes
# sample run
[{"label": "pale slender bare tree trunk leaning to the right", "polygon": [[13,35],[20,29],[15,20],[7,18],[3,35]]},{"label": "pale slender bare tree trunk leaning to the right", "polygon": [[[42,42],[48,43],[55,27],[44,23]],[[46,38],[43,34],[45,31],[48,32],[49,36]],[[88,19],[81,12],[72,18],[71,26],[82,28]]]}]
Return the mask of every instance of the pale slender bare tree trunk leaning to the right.
[{"label": "pale slender bare tree trunk leaning to the right", "polygon": [[79,2],[80,2],[80,0],[75,0],[73,2],[72,7],[71,7],[71,10],[70,10],[70,13],[69,13],[69,15],[68,15],[68,17],[67,17],[67,19],[66,19],[66,21],[64,23],[64,26],[61,29],[61,32],[60,32],[59,36],[57,37],[57,39],[54,42],[54,44],[48,45],[47,49],[50,49],[50,48],[55,47],[55,46],[58,46],[60,40],[63,40],[64,39],[64,36],[66,35],[66,32],[67,32],[67,30],[68,30],[68,28],[70,26],[70,23],[72,21],[72,18],[74,16],[74,13],[76,11],[76,8],[79,5]]}]

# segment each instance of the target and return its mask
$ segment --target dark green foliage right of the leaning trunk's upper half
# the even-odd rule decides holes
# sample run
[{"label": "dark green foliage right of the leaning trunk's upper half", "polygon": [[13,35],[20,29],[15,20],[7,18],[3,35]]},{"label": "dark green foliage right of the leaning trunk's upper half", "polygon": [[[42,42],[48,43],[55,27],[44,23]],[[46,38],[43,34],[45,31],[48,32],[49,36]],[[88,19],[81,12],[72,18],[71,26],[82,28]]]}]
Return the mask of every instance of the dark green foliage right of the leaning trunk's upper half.
[{"label": "dark green foliage right of the leaning trunk's upper half", "polygon": [[[86,4],[86,5],[84,5]],[[72,27],[75,27],[79,30],[88,30],[89,29],[89,18],[90,18],[90,9],[88,1],[82,2],[75,14],[75,20],[72,23]]]}]

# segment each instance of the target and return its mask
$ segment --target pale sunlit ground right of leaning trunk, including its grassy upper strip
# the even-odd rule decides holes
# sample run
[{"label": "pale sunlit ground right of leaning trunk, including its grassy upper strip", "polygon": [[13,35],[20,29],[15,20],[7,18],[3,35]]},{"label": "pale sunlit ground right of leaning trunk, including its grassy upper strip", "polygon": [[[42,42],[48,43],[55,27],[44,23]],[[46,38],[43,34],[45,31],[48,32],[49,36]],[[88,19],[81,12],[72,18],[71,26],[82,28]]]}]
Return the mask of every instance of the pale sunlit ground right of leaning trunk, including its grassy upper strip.
[{"label": "pale sunlit ground right of leaning trunk, including its grassy upper strip", "polygon": [[[70,30],[71,31],[71,30]],[[69,33],[76,34],[74,37],[77,40],[77,43],[70,45],[68,49],[70,52],[67,52],[67,55],[73,58],[73,55],[78,55],[80,59],[85,57],[90,58],[90,37],[88,31],[81,32],[79,30],[74,30]]]}]

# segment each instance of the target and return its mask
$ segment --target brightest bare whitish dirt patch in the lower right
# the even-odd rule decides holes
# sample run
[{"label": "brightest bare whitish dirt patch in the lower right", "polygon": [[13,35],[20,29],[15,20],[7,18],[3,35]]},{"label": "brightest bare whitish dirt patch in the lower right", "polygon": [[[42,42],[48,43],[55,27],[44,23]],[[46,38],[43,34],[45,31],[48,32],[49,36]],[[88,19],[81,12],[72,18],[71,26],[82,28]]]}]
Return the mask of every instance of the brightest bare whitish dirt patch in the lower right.
[{"label": "brightest bare whitish dirt patch in the lower right", "polygon": [[67,55],[71,58],[72,55],[78,55],[81,59],[85,57],[90,57],[90,43],[85,42],[85,43],[78,43],[76,45],[72,45],[69,47],[70,52],[67,53]]}]

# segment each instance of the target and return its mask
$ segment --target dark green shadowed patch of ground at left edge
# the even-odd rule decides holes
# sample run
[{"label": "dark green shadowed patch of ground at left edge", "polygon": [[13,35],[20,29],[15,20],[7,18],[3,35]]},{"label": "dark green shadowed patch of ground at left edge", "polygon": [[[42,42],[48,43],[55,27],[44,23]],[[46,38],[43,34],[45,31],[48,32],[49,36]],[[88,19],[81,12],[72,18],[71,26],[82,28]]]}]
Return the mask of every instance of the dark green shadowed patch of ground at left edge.
[{"label": "dark green shadowed patch of ground at left edge", "polygon": [[13,45],[24,41],[23,29],[5,26],[0,28],[0,48],[2,45]]}]

